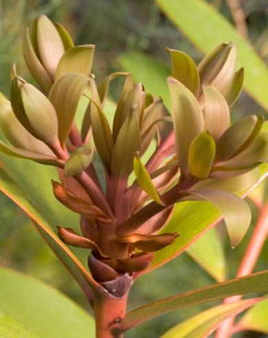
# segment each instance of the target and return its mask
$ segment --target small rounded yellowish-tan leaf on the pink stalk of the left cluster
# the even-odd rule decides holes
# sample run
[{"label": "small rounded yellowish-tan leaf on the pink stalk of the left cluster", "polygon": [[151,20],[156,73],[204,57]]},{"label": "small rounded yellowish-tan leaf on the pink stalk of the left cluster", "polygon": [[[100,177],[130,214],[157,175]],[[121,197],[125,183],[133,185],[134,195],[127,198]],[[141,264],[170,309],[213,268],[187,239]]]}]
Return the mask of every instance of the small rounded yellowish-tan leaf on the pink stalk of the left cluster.
[{"label": "small rounded yellowish-tan leaf on the pink stalk of the left cluster", "polygon": [[85,170],[93,159],[93,149],[90,143],[83,144],[83,146],[76,148],[64,166],[64,176],[74,176],[80,174]]}]

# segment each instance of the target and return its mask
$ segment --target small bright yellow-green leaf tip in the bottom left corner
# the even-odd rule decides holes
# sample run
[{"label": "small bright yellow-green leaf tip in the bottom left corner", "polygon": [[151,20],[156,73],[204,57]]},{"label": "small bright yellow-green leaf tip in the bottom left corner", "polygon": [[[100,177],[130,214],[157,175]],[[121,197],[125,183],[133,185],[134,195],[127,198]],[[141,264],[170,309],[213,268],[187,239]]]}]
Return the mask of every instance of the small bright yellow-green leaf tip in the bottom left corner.
[{"label": "small bright yellow-green leaf tip in the bottom left corner", "polygon": [[[0,337],[2,338],[38,338],[19,321],[0,311]],[[40,337],[40,336],[39,336]]]}]

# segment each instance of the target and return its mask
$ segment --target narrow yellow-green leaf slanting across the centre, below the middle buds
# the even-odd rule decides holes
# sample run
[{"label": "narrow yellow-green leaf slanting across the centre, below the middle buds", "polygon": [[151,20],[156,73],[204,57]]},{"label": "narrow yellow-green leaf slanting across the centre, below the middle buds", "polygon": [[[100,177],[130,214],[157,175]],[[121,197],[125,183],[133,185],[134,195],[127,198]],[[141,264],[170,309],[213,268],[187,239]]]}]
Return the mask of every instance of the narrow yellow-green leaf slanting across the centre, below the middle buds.
[{"label": "narrow yellow-green leaf slanting across the centre, below the middle buds", "polygon": [[163,202],[161,201],[161,197],[159,197],[158,191],[156,190],[154,183],[147,172],[145,166],[141,159],[136,155],[133,160],[133,168],[135,172],[135,176],[138,182],[138,185],[147,192],[148,196],[150,196],[154,201],[161,204],[163,206]]}]

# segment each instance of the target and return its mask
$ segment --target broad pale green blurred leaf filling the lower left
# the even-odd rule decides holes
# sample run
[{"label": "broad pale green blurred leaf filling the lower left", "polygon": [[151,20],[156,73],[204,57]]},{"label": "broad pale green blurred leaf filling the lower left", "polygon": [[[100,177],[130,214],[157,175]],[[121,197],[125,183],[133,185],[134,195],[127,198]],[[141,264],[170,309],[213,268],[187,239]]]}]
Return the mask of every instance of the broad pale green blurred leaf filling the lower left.
[{"label": "broad pale green blurred leaf filling the lower left", "polygon": [[59,291],[7,268],[0,269],[0,280],[1,310],[39,338],[94,337],[92,317]]}]

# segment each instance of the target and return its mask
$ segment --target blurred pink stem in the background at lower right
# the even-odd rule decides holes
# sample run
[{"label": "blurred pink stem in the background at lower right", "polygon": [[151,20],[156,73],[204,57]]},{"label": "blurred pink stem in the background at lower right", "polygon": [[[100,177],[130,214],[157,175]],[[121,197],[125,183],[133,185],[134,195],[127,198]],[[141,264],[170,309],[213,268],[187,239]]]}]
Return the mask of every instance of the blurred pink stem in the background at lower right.
[{"label": "blurred pink stem in the background at lower right", "polygon": [[[255,226],[254,232],[249,240],[247,249],[245,251],[244,257],[240,263],[236,277],[243,277],[249,275],[256,265],[256,261],[262,250],[262,246],[265,243],[265,239],[268,235],[268,202],[260,211],[257,224]],[[234,301],[239,301],[242,296],[234,296],[226,298],[223,303],[232,303]],[[227,319],[222,326],[218,329],[216,333],[216,338],[229,338],[231,337],[232,326],[234,324],[234,317]]]}]

